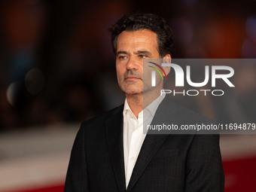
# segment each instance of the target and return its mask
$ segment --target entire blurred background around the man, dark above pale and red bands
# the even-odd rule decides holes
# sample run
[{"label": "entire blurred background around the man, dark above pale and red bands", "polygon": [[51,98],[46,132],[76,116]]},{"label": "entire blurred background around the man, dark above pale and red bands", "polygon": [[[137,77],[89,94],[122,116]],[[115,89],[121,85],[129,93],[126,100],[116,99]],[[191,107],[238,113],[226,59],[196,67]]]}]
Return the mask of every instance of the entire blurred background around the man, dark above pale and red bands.
[{"label": "entire blurred background around the man, dark above pale and red bands", "polygon": [[[255,0],[2,0],[0,189],[63,190],[79,123],[124,101],[108,28],[137,11],[166,18],[174,58],[256,58]],[[233,67],[227,96],[181,102],[215,120],[255,123],[256,63]],[[254,141],[221,137],[225,191],[255,191]]]}]

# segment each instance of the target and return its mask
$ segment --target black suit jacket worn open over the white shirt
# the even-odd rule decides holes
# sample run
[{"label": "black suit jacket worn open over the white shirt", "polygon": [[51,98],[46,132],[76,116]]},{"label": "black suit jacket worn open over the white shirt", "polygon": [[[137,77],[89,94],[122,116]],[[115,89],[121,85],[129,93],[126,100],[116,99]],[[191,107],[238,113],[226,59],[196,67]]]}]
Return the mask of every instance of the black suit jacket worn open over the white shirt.
[{"label": "black suit jacket worn open over the white shirt", "polygon": [[[168,110],[166,113],[163,111]],[[208,122],[169,99],[163,99],[152,123]],[[123,105],[91,120],[78,131],[66,175],[70,191],[224,191],[218,135],[145,137],[130,183],[125,187]]]}]

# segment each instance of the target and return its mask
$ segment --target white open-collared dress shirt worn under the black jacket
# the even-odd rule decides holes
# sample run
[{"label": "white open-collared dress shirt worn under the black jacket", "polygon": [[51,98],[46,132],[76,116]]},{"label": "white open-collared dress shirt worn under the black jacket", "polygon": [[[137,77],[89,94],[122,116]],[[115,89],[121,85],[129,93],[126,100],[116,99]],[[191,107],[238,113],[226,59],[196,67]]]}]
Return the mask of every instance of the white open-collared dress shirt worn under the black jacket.
[{"label": "white open-collared dress shirt worn under the black jacket", "polygon": [[[131,111],[127,100],[125,99],[123,107],[123,157],[124,169],[126,178],[126,187],[129,184],[130,178],[133,173],[133,168],[139,156],[139,151],[142,148],[146,134],[143,134],[143,122],[150,124],[158,105],[163,101],[163,96],[157,97],[154,102],[151,102],[143,111],[138,115],[138,119]],[[144,121],[143,121],[144,114]]]}]

